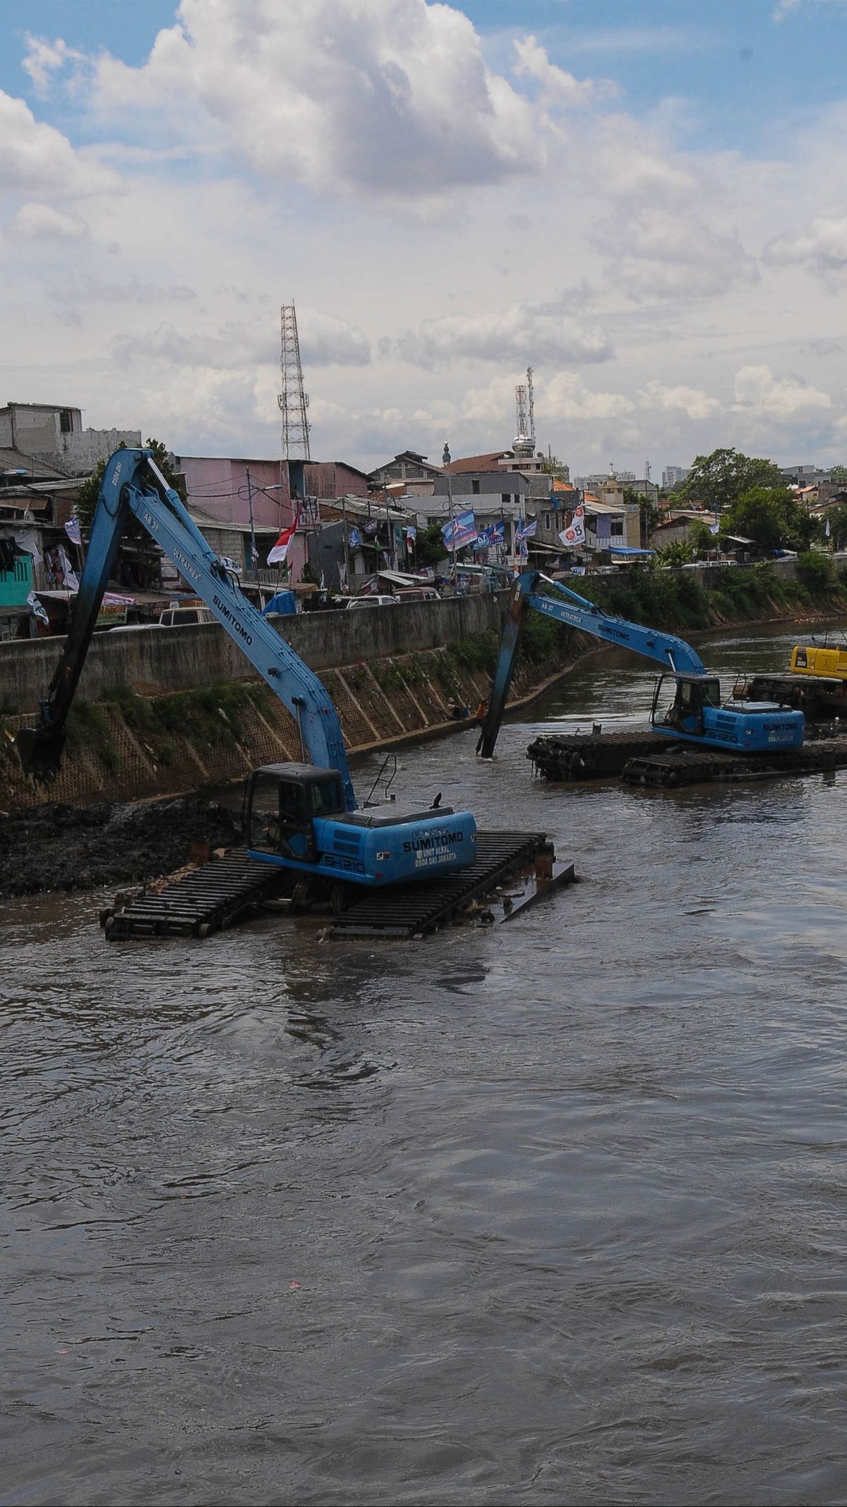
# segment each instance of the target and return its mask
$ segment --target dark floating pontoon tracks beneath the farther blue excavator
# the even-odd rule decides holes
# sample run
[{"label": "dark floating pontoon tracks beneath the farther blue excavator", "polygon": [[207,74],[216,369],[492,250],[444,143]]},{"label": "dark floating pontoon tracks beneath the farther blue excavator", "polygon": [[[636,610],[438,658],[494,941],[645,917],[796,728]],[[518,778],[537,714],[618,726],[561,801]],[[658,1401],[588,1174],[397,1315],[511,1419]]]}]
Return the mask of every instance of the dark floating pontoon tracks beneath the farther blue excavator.
[{"label": "dark floating pontoon tracks beneath the farther blue excavator", "polygon": [[535,738],[526,757],[544,779],[618,776],[627,785],[678,788],[714,781],[778,779],[847,767],[847,737],[820,737],[787,754],[722,754],[651,732],[574,732]]}]

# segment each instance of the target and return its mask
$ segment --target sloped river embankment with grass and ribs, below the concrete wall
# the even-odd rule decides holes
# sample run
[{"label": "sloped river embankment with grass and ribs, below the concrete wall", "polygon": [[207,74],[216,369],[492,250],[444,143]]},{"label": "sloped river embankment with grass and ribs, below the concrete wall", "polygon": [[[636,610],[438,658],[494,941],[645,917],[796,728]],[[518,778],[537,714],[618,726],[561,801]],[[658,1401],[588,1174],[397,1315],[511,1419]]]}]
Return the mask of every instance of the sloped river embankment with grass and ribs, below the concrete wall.
[{"label": "sloped river embankment with grass and ribs, below the concrete wall", "polygon": [[[844,582],[812,589],[796,562],[758,571],[638,573],[580,583],[606,610],[671,631],[847,612]],[[506,595],[277,619],[315,669],[351,754],[467,728],[487,698]],[[547,616],[526,624],[511,704],[537,695],[597,639]],[[0,812],[184,794],[303,757],[298,729],[223,628],[98,634],[66,725],[62,772],[45,790],[23,773],[14,735],[32,725],[62,640],[0,645]],[[457,720],[455,707],[470,716]]]}]

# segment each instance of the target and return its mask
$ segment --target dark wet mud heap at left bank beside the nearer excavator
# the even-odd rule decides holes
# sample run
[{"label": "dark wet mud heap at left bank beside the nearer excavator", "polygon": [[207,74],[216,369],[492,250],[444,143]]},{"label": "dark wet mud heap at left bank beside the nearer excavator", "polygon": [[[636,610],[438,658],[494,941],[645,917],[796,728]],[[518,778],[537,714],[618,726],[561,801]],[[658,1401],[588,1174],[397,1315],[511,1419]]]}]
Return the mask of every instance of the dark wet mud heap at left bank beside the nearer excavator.
[{"label": "dark wet mud heap at left bank beside the nearer excavator", "polygon": [[235,814],[197,799],[39,806],[0,821],[0,895],[157,879],[188,862],[193,841],[232,847]]}]

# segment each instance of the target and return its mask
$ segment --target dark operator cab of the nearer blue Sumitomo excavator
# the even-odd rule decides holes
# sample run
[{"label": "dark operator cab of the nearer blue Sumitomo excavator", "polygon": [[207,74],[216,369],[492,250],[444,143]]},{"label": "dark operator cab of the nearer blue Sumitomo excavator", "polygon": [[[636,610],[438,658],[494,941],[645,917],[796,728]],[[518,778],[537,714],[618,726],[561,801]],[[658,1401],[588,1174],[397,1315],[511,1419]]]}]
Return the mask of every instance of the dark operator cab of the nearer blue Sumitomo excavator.
[{"label": "dark operator cab of the nearer blue Sumitomo excavator", "polygon": [[244,790],[243,838],[256,854],[313,864],[318,857],[315,817],[345,811],[341,775],[316,764],[262,764]]}]

